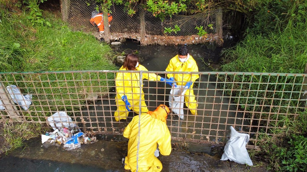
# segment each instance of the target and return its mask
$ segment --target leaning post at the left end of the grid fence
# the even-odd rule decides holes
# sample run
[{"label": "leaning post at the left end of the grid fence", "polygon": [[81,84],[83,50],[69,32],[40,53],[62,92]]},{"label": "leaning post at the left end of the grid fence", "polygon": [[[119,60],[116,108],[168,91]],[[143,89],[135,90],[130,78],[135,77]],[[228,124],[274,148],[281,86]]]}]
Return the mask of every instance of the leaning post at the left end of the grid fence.
[{"label": "leaning post at the left end of the grid fence", "polygon": [[21,119],[20,114],[15,106],[14,101],[12,100],[10,93],[6,90],[6,87],[2,82],[0,82],[0,99],[5,107],[6,113],[10,118]]}]

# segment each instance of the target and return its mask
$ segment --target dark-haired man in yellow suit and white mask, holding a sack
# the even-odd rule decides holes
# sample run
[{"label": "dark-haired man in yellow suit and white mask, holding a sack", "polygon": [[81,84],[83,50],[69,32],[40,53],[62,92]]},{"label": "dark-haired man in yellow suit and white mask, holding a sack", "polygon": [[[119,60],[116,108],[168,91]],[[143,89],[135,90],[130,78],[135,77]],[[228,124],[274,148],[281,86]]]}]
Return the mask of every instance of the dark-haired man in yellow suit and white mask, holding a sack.
[{"label": "dark-haired man in yellow suit and white mask, holding a sack", "polygon": [[[169,61],[169,65],[165,71],[171,72],[198,72],[198,67],[188,49],[183,46],[178,50],[178,54]],[[170,80],[174,80],[177,85],[188,86],[185,92],[185,105],[189,108],[193,115],[197,115],[197,102],[193,91],[193,83],[199,78],[198,74],[167,74]]]}]

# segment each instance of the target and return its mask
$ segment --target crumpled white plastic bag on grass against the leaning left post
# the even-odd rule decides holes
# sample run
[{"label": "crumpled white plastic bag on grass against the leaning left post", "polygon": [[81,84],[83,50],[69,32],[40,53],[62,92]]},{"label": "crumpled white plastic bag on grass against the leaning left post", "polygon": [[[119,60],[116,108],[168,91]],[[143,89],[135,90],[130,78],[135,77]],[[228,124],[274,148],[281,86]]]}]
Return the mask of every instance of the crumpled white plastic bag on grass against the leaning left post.
[{"label": "crumpled white plastic bag on grass against the leaning left post", "polygon": [[8,85],[6,90],[10,93],[14,103],[20,105],[24,110],[28,110],[30,108],[30,104],[32,104],[32,94],[22,95],[16,85]]}]

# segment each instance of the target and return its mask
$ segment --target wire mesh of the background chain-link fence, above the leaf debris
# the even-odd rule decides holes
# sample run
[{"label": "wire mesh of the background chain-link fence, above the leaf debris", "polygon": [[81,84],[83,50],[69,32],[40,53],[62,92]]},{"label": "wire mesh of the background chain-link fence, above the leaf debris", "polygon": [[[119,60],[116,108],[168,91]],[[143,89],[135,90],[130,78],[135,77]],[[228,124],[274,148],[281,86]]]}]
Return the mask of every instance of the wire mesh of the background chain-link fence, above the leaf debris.
[{"label": "wire mesh of the background chain-link fence, above the leaf debris", "polygon": [[[99,3],[89,0],[66,0],[63,3],[62,9],[67,9],[67,15],[64,17],[74,30],[81,30],[84,32],[98,32],[97,27],[90,24],[91,14],[96,10]],[[130,17],[125,11],[123,5],[113,5],[110,8],[113,20],[110,22],[110,32],[113,37],[139,37],[141,30],[144,30],[146,35],[156,36],[192,36],[199,32],[196,26],[202,26],[204,31],[208,34],[218,34],[220,39],[222,37],[222,10],[212,9],[206,13],[197,13],[195,15],[179,15],[174,14],[172,17],[165,17],[161,22],[158,17],[154,17],[149,11],[142,8],[135,7],[136,13]],[[212,27],[208,27],[208,25]],[[165,28],[174,29],[175,25],[180,28],[178,32],[164,33]],[[141,27],[145,27],[140,29]],[[135,36],[137,35],[137,36]],[[203,39],[204,41],[209,41]],[[180,40],[179,40],[180,41]],[[185,40],[187,42],[187,40]]]}]

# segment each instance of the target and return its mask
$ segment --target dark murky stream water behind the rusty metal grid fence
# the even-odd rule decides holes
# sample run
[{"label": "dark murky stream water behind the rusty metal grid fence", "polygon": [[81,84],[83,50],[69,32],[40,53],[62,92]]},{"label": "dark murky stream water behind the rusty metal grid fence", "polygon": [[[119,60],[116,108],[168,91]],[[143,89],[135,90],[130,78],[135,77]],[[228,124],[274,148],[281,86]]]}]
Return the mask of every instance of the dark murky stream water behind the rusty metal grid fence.
[{"label": "dark murky stream water behind the rusty metal grid fence", "polygon": [[[177,54],[178,47],[176,46],[139,46],[137,42],[125,42],[117,47],[112,47],[116,52],[125,53],[138,53],[140,58],[144,59],[141,64],[144,65],[149,71],[165,71],[169,60]],[[212,44],[208,45],[188,45],[187,46],[190,55],[196,60],[200,72],[210,71],[206,63],[217,63],[219,61],[219,54],[222,47],[214,47]],[[121,66],[121,64],[117,64]],[[162,76],[163,74],[160,74]],[[162,76],[166,77],[166,76]],[[243,125],[247,125],[247,121],[242,121],[243,114],[229,112],[227,110],[236,110],[236,107],[229,105],[233,102],[229,98],[223,98],[223,92],[216,91],[216,78],[214,75],[203,74],[200,76],[199,84],[194,86],[194,94],[198,101],[197,116],[189,114],[187,107],[184,107],[185,119],[180,119],[177,115],[171,115],[167,121],[167,125],[172,133],[172,136],[178,138],[189,138],[200,140],[200,135],[208,135],[209,141],[226,142],[223,137],[229,136],[229,127],[236,124],[237,130],[246,130]],[[197,82],[196,82],[197,83]],[[170,92],[170,86],[162,82],[148,82],[143,81],[143,91],[145,93],[145,100],[149,110],[154,110],[159,104],[168,105],[168,94]],[[110,98],[114,98],[115,94],[110,95]],[[87,111],[103,111],[104,117],[111,118],[95,118],[99,116],[98,112]],[[115,127],[115,131],[122,131],[124,127],[130,122],[131,118],[135,115],[130,112],[127,120],[121,120],[120,123],[114,122],[110,111],[115,111],[115,101],[110,99],[102,99],[102,101],[95,105],[89,105],[88,110],[84,111],[83,116],[88,120],[96,123],[88,124],[91,127]],[[101,112],[99,112],[101,113]],[[222,117],[222,118],[221,118]],[[109,123],[104,123],[104,122]],[[113,121],[113,122],[112,122]],[[210,124],[210,122],[212,122]],[[241,125],[241,127],[240,127]],[[204,130],[202,130],[204,129]],[[108,130],[108,129],[107,129]],[[224,132],[226,130],[226,132]],[[111,130],[110,130],[111,131]],[[195,135],[192,133],[196,133]],[[191,151],[203,152],[201,147],[191,146]]]}]

